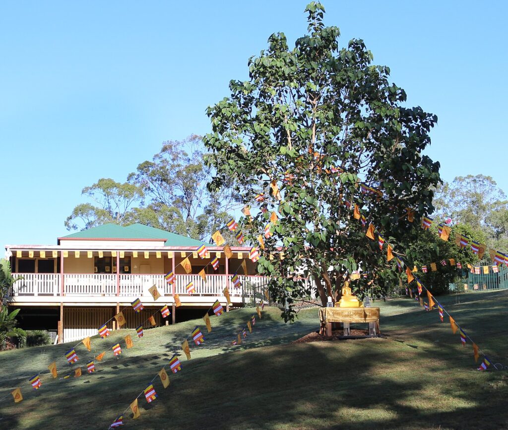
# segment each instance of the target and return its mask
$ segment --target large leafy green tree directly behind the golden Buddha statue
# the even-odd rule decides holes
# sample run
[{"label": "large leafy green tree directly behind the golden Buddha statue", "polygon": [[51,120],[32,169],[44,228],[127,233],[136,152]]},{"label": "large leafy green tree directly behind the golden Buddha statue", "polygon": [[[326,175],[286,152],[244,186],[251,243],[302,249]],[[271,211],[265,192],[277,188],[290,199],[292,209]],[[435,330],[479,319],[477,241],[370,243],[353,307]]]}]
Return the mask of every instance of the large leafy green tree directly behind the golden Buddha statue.
[{"label": "large leafy green tree directly behind the golden Buddha statue", "polygon": [[[248,61],[249,80],[231,81],[230,96],[208,108],[204,139],[216,170],[210,190],[233,181],[252,205],[240,219],[252,245],[268,224],[259,270],[287,305],[285,320],[310,293],[299,275],[314,280],[323,304],[345,282],[360,296],[397,285],[395,259],[387,263],[386,244],[380,252],[367,227],[403,254],[440,181],[439,164],[422,155],[436,116],[403,106],[404,90],[389,83],[388,67],[371,64],[362,40],[339,48],[339,29],[324,25],[321,4],[305,11],[308,33],[295,47],[271,35]],[[355,270],[367,276],[352,281]]]}]

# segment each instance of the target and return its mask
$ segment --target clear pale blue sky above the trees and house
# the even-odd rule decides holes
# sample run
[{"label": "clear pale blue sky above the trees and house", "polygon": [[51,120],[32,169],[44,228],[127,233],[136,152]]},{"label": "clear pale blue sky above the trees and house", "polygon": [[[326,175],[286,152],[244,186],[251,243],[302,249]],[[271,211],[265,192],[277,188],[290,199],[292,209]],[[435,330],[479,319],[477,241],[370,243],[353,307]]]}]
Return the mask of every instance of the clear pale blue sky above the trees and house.
[{"label": "clear pale blue sky above the trees and house", "polygon": [[[268,36],[306,32],[307,3],[3,2],[0,245],[56,243],[83,187],[207,133],[206,107]],[[508,3],[323,3],[341,45],[364,39],[407,105],[437,114],[427,153],[443,179],[483,173],[508,192]]]}]

